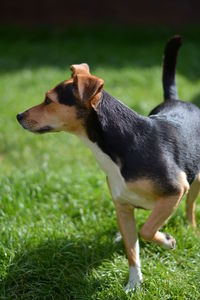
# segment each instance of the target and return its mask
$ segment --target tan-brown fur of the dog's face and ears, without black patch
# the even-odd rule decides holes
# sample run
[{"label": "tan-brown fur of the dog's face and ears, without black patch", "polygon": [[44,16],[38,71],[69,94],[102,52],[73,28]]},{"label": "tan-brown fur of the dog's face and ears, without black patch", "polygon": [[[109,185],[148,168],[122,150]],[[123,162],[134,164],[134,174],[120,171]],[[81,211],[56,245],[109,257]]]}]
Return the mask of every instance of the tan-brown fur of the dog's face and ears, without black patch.
[{"label": "tan-brown fur of the dog's face and ears, without black patch", "polygon": [[[58,86],[56,86],[46,93],[46,97],[51,100],[51,103],[45,104],[43,102],[24,113],[24,118],[20,123],[25,129],[32,132],[41,132],[42,129],[42,132],[46,132],[46,129],[50,129],[51,131],[69,131],[77,135],[86,135],[83,124],[84,121],[83,118],[80,118],[80,115],[83,115],[84,108],[85,114],[87,115],[87,110],[89,112],[92,107],[96,109],[98,106],[101,97],[100,91],[103,89],[103,80],[91,76],[87,64],[73,65],[72,69],[72,71],[76,73],[76,76],[73,76],[61,84],[67,85],[74,83],[76,88],[74,88],[73,92],[76,93],[75,97],[77,101],[80,101],[80,106],[60,103],[58,99],[59,95],[56,93]],[[81,81],[81,91],[84,97],[88,96],[86,97],[87,99],[80,97],[80,89],[76,86],[77,78]],[[78,110],[81,110],[81,114]]]}]

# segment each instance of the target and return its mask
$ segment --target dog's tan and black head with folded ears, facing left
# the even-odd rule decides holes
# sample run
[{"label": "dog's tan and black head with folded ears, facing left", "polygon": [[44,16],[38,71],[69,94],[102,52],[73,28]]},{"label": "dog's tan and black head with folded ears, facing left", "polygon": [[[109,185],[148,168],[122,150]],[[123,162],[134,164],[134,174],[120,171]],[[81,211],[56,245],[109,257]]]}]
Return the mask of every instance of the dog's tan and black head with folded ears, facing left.
[{"label": "dog's tan and black head with folded ears, facing left", "polygon": [[71,78],[49,90],[41,104],[17,115],[25,129],[34,133],[84,133],[83,120],[97,109],[104,81],[92,76],[87,64],[72,65],[71,71]]}]

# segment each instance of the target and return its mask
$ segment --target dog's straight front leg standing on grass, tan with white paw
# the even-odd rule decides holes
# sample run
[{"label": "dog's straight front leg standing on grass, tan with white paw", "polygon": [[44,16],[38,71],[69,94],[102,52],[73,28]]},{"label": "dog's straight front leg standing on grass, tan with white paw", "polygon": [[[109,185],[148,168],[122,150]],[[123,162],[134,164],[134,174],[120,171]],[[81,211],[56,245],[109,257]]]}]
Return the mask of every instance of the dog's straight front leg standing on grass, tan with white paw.
[{"label": "dog's straight front leg standing on grass, tan with white paw", "polygon": [[124,240],[129,262],[129,280],[126,291],[134,290],[142,282],[134,209],[128,204],[115,202],[119,230]]}]

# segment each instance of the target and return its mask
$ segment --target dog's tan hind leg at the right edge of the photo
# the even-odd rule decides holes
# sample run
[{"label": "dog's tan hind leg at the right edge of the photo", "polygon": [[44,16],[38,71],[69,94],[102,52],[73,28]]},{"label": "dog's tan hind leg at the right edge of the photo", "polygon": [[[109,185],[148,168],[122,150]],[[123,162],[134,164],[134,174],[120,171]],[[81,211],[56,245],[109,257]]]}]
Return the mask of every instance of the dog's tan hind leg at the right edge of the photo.
[{"label": "dog's tan hind leg at the right edge of the photo", "polygon": [[198,197],[199,192],[200,192],[200,174],[198,174],[195,181],[191,184],[186,199],[186,218],[194,228],[196,228],[196,221],[195,221],[196,199]]}]

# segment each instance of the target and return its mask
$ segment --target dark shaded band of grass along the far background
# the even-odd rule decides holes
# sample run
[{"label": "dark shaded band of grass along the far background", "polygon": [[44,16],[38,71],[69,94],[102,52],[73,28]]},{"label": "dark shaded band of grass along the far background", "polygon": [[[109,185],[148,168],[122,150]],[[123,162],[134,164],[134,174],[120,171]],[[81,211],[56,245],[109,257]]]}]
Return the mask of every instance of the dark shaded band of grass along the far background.
[{"label": "dark shaded band of grass along the far background", "polygon": [[[178,70],[191,80],[200,76],[199,31],[198,27],[180,30],[185,45]],[[81,62],[89,63],[91,68],[160,67],[164,45],[174,34],[173,29],[130,26],[0,28],[0,73],[43,66],[67,70],[71,64]]]}]

